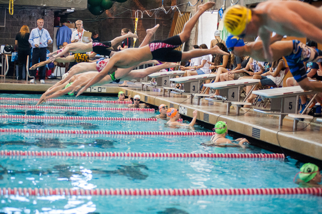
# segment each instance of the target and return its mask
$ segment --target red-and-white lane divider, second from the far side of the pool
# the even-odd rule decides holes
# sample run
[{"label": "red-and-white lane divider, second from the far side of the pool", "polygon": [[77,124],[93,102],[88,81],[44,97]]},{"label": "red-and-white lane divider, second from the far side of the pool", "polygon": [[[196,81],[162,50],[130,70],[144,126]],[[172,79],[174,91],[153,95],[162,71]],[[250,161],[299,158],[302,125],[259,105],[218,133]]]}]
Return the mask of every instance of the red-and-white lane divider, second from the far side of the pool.
[{"label": "red-and-white lane divider, second from the far side of the pool", "polygon": [[80,106],[48,106],[48,105],[6,105],[0,104],[0,109],[23,109],[23,110],[94,110],[94,111],[128,111],[128,112],[155,112],[154,109],[140,108],[110,108],[110,107],[80,107]]}]

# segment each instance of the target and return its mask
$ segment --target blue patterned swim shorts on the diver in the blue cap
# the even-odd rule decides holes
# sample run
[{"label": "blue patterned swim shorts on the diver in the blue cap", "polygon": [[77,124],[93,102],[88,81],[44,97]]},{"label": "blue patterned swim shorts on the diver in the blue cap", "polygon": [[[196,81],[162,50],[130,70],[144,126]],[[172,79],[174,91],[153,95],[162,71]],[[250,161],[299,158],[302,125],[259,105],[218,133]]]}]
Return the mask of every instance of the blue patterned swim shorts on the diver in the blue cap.
[{"label": "blue patterned swim shorts on the diver in the blue cap", "polygon": [[306,69],[303,64],[304,61],[308,61],[312,56],[313,58],[310,61],[322,61],[322,51],[314,49],[312,52],[311,50],[312,49],[305,46],[300,41],[293,40],[293,52],[290,55],[285,56],[290,71],[297,82],[307,78]]}]

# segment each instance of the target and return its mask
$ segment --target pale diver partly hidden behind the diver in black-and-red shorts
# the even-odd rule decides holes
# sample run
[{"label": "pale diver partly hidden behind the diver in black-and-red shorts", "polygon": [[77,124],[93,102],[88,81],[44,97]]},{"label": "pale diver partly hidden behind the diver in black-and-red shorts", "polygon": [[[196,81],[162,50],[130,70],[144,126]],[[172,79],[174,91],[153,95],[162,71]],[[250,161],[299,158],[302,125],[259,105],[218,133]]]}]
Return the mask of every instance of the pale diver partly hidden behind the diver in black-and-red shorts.
[{"label": "pale diver partly hidden behind the diver in black-and-red shorts", "polygon": [[[167,62],[165,64],[160,64],[160,65],[151,66],[151,67],[147,67],[144,69],[137,69],[137,70],[131,70],[131,69],[133,69],[133,67],[124,68],[124,69],[120,68],[121,70],[125,70],[124,73],[127,73],[127,74],[125,76],[119,76],[119,75],[122,75],[122,73],[123,73],[123,71],[121,71],[121,72],[118,72],[115,74],[115,78],[118,78],[118,79],[121,78],[122,80],[144,78],[145,76],[147,76],[151,73],[154,73],[156,71],[159,71],[161,69],[177,67],[179,65],[180,64],[174,63],[174,62]],[[130,70],[129,73],[128,73],[128,70]],[[62,84],[56,83],[55,85],[50,87],[45,93],[43,93],[41,95],[41,97],[39,98],[38,103],[36,105],[39,105],[39,104],[45,102],[47,99],[59,97],[64,94],[67,94],[69,92],[74,94],[81,87],[86,85],[91,80],[91,78],[93,78],[95,75],[97,75],[97,73],[98,73],[97,71],[89,71],[89,72],[85,72],[85,73],[81,73],[81,74],[76,74],[76,75],[72,76],[69,79],[69,81],[66,81]],[[104,84],[110,83],[112,81],[113,81],[113,79],[111,78],[111,76],[106,76],[97,84],[104,85]],[[65,86],[69,83],[71,83],[71,84],[65,88]]]}]

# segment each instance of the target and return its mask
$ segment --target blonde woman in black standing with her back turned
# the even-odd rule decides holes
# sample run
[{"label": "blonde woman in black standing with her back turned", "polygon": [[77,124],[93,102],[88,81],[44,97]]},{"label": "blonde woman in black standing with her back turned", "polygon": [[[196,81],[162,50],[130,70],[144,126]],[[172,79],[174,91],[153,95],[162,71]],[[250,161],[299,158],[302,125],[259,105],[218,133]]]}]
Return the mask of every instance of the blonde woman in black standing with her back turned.
[{"label": "blonde woman in black standing with her back turned", "polygon": [[[22,70],[24,64],[27,65],[27,56],[30,57],[30,44],[28,42],[30,33],[27,25],[21,27],[20,32],[16,36],[16,46],[18,45],[18,80],[22,79]],[[27,66],[26,66],[27,69]],[[27,74],[27,72],[26,72]]]}]

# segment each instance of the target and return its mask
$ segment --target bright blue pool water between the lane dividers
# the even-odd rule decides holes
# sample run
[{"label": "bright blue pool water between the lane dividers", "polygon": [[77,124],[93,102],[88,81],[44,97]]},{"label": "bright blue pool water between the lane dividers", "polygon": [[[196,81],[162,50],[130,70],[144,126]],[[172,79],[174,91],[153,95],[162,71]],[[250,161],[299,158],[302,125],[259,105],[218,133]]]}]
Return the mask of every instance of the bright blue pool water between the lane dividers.
[{"label": "bright blue pool water between the lane dividers", "polygon": [[[0,94],[0,97],[40,95]],[[74,98],[72,96],[64,99]],[[85,97],[115,100],[115,97]],[[31,105],[30,101],[0,100],[0,104]],[[52,102],[57,106],[100,106],[123,108],[124,104]],[[150,118],[152,112],[88,110],[0,109],[0,115]],[[101,130],[208,132],[170,129],[165,121],[95,121],[2,118],[1,129]],[[230,137],[231,138],[231,137]],[[127,153],[271,153],[247,149],[204,147],[209,136],[106,135],[0,133],[0,150],[49,152]],[[140,157],[38,157],[1,156],[0,188],[294,188],[294,175],[301,165],[293,159],[233,158],[140,158]],[[321,197],[303,195],[2,195],[0,211],[6,213],[214,213],[214,212],[321,212]],[[215,211],[214,211],[215,210]],[[217,211],[218,210],[218,211]]]}]

